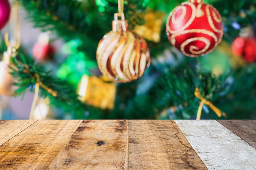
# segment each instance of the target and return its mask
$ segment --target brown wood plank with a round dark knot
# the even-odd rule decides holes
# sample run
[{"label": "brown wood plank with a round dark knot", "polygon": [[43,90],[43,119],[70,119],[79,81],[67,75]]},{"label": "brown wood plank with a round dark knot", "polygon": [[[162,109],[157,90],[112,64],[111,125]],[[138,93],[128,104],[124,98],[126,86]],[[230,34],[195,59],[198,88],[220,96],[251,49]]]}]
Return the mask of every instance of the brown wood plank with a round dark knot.
[{"label": "brown wood plank with a round dark knot", "polygon": [[49,170],[126,170],[127,159],[127,120],[85,120]]}]

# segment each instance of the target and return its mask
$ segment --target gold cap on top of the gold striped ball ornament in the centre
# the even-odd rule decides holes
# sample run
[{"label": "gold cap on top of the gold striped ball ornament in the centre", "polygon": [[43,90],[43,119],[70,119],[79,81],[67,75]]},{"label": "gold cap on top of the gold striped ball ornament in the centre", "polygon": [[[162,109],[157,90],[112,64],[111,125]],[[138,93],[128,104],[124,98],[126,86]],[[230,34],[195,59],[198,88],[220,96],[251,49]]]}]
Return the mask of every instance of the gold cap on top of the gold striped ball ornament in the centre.
[{"label": "gold cap on top of the gold striped ball ornament in the centre", "polygon": [[[121,20],[119,18],[121,17]],[[112,31],[121,32],[127,31],[128,24],[124,18],[124,13],[115,13],[115,20],[112,21]]]}]

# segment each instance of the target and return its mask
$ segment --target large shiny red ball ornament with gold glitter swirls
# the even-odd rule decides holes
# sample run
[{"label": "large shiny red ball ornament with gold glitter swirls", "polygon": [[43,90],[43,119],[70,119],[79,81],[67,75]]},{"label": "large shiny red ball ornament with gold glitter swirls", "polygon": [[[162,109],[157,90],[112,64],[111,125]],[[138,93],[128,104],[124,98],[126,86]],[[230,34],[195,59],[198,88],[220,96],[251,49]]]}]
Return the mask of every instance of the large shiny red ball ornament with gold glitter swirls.
[{"label": "large shiny red ball ornament with gold glitter swirls", "polygon": [[171,44],[184,55],[210,53],[222,40],[220,13],[203,0],[183,2],[168,16],[166,33]]}]

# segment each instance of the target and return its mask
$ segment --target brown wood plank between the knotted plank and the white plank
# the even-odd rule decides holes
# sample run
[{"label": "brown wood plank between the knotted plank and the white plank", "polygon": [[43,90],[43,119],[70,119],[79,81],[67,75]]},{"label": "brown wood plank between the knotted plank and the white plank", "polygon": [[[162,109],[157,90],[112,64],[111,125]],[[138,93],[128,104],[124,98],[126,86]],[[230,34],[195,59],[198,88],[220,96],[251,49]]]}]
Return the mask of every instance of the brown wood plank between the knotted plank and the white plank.
[{"label": "brown wood plank between the knotted plank and the white plank", "polygon": [[172,120],[129,120],[129,170],[207,169]]}]

